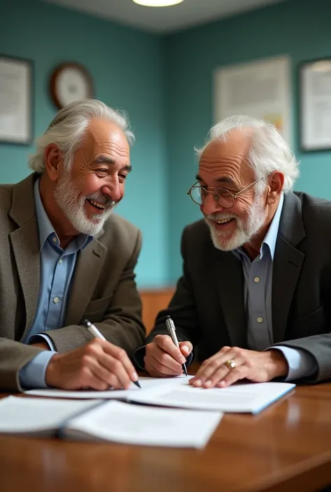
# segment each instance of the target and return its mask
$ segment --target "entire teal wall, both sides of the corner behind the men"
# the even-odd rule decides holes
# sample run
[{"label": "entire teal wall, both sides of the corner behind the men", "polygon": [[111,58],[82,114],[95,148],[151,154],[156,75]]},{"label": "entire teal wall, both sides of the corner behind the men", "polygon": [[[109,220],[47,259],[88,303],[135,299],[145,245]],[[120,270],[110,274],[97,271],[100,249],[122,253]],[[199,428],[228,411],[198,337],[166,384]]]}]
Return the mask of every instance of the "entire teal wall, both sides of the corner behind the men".
[{"label": "entire teal wall, both sides of the corner behind the men", "polygon": [[[1,5],[0,53],[34,60],[35,135],[55,112],[47,77],[68,59],[89,68],[96,98],[130,115],[137,136],[134,172],[118,210],[144,235],[137,270],[141,287],[172,283],[181,273],[182,229],[200,218],[186,195],[196,174],[193,147],[203,144],[214,124],[213,71],[219,66],[290,55],[294,150],[302,163],[296,188],[331,198],[331,154],[300,153],[295,117],[297,64],[331,55],[330,0],[288,0],[165,37],[38,0],[11,0]],[[0,144],[0,182],[27,176],[31,151]]]}]

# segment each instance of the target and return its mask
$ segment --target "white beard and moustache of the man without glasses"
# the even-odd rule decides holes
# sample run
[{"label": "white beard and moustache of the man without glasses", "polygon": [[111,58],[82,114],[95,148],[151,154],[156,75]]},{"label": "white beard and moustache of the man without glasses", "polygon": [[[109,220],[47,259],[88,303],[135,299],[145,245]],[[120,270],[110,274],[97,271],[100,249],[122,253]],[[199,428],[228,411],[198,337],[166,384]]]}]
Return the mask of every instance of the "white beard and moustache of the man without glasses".
[{"label": "white beard and moustache of the man without glasses", "polygon": [[[54,198],[75,230],[81,234],[91,234],[91,236],[95,236],[102,230],[105,221],[115,208],[115,202],[112,202],[110,197],[103,193],[92,193],[87,197],[80,197],[80,192],[75,188],[68,173],[59,179],[54,191]],[[108,202],[103,214],[95,214],[88,218],[84,209],[87,198],[103,204]]]}]

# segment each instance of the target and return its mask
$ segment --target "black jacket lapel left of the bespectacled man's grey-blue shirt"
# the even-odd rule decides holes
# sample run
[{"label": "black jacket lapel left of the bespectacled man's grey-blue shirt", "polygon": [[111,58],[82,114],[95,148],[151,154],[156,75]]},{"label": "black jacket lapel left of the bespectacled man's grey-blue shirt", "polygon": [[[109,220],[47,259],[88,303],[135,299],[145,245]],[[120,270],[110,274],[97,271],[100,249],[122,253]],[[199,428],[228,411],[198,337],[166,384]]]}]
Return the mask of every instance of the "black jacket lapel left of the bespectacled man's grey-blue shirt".
[{"label": "black jacket lapel left of the bespectacled man's grey-blue shirt", "polygon": [[[215,248],[214,248],[215,249]],[[233,346],[247,348],[247,322],[244,310],[244,274],[242,263],[233,253],[217,255],[219,299]]]}]

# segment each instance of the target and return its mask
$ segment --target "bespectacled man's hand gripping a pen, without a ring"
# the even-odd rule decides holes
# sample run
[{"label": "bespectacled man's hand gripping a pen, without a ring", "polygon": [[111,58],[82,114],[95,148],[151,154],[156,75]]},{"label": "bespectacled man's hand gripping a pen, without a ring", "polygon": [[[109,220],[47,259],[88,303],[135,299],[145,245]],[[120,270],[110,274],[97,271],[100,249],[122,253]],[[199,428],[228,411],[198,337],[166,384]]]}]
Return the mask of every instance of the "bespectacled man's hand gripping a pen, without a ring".
[{"label": "bespectacled man's hand gripping a pen, without a ring", "polygon": [[179,348],[168,335],[156,335],[146,345],[144,358],[146,371],[154,378],[167,378],[182,374],[182,364],[192,352],[191,342],[179,342]]}]

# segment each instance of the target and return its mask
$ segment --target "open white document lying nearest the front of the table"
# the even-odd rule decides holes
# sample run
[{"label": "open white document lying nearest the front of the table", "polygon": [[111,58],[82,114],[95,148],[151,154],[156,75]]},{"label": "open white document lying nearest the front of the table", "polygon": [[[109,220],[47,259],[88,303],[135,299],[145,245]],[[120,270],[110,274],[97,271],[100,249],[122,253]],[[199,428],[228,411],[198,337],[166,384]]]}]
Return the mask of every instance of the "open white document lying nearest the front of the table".
[{"label": "open white document lying nearest the front of the table", "polygon": [[119,401],[16,396],[0,401],[0,433],[36,437],[57,433],[62,439],[133,445],[202,448],[221,417],[221,412],[154,408]]}]

